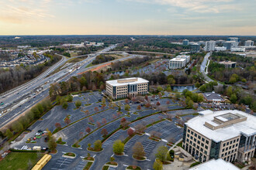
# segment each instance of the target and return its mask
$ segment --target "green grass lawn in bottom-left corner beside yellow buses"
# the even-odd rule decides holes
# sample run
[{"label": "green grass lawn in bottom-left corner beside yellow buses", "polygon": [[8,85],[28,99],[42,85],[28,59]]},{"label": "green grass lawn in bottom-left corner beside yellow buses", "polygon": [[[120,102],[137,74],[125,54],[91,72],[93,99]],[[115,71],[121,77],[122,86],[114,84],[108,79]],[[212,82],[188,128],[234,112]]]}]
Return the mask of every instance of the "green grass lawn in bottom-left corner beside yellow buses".
[{"label": "green grass lawn in bottom-left corner beside yellow buses", "polygon": [[[39,158],[37,157],[39,155]],[[0,162],[0,169],[30,169],[42,158],[36,152],[11,152]],[[29,160],[31,162],[29,166]]]}]

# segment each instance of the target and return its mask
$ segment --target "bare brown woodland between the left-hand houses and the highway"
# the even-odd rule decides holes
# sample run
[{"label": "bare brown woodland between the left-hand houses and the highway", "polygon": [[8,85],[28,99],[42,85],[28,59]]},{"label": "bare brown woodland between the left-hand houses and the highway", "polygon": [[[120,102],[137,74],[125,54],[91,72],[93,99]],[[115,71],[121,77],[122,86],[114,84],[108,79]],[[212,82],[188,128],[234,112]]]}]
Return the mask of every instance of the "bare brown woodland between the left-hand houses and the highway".
[{"label": "bare brown woodland between the left-hand houses and the highway", "polygon": [[46,56],[50,56],[50,60],[37,66],[16,66],[15,68],[0,70],[0,93],[32,80],[43,70],[46,70],[61,59],[61,56],[53,56],[50,53],[47,53]]}]

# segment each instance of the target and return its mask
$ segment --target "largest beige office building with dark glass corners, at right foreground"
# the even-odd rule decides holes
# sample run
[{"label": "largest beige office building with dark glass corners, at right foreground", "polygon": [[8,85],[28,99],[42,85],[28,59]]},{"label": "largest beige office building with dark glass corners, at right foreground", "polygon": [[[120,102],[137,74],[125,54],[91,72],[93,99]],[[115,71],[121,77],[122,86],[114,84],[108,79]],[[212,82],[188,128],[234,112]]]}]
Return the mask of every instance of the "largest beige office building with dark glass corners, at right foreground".
[{"label": "largest beige office building with dark glass corners, at right foreground", "polygon": [[182,145],[199,162],[249,162],[256,145],[255,122],[256,117],[239,110],[204,110],[185,123]]}]

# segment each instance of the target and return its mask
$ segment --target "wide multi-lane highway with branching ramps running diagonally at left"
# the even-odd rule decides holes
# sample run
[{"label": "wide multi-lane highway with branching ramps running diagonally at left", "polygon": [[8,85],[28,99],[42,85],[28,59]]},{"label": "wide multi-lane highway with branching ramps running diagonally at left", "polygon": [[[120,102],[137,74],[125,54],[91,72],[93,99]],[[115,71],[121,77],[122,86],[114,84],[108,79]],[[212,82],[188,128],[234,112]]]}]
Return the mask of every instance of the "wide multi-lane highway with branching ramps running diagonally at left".
[{"label": "wide multi-lane highway with branching ramps running diagonally at left", "polygon": [[[49,87],[51,83],[56,83],[60,81],[66,81],[71,76],[78,76],[78,73],[85,72],[86,70],[90,70],[94,68],[95,66],[91,66],[86,68],[89,63],[92,63],[92,61],[95,59],[96,56],[99,56],[102,53],[106,53],[111,49],[116,48],[116,45],[112,45],[107,47],[106,49],[103,49],[102,51],[98,53],[92,53],[89,54],[88,57],[81,62],[78,63],[71,63],[71,65],[67,66],[67,68],[64,68],[63,70],[60,70],[57,73],[54,73],[53,75],[50,75],[55,69],[58,68],[58,66],[61,66],[64,62],[67,61],[67,59],[64,59],[64,61],[61,61],[61,63],[58,63],[57,65],[54,65],[51,70],[47,70],[47,73],[43,73],[43,75],[40,75],[39,77],[36,77],[36,80],[33,80],[32,82],[29,82],[29,84],[22,85],[17,90],[15,90],[15,93],[10,94],[10,96],[5,95],[6,97],[2,98],[4,99],[3,102],[9,102],[10,104],[13,104],[14,100],[16,98],[22,98],[19,103],[14,103],[13,107],[11,107],[6,113],[2,113],[0,116],[0,128],[3,128],[9,121],[12,121],[15,119],[19,114],[22,114],[24,111],[26,111],[29,107],[32,107],[34,104],[39,103],[41,100],[43,100],[45,97],[49,95]],[[122,61],[124,59],[136,57],[138,55],[131,55],[126,58],[116,59],[115,61]],[[99,64],[97,66],[101,66],[106,63]],[[75,69],[75,67],[80,67],[80,69]],[[50,75],[50,76],[48,76]],[[38,90],[36,89],[43,89]],[[31,96],[31,93],[35,92],[35,95]],[[29,96],[30,94],[30,96]]]}]

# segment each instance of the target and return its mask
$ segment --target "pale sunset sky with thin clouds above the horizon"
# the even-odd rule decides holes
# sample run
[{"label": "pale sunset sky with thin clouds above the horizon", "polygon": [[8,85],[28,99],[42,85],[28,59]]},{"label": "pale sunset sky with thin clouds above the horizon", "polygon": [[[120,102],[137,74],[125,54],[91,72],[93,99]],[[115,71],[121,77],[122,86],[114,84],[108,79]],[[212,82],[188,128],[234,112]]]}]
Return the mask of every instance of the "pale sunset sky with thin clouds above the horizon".
[{"label": "pale sunset sky with thin clouds above the horizon", "polygon": [[256,36],[256,0],[0,0],[0,35]]}]

